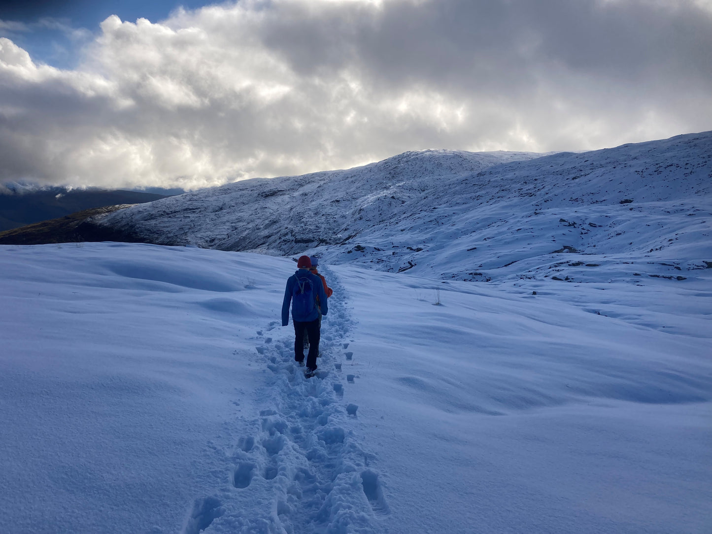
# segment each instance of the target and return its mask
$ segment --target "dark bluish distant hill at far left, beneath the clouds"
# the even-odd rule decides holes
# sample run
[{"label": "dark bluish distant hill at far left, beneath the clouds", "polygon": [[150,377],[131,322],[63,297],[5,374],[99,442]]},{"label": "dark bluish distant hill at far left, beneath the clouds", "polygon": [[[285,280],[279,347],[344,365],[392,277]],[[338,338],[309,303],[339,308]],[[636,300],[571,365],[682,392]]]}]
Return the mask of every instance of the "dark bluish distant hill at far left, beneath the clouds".
[{"label": "dark bluish distant hill at far left, beneath the clouds", "polygon": [[116,204],[143,204],[169,195],[122,189],[73,189],[63,187],[23,190],[4,189],[0,194],[0,231],[48,219],[57,219],[85,209]]}]

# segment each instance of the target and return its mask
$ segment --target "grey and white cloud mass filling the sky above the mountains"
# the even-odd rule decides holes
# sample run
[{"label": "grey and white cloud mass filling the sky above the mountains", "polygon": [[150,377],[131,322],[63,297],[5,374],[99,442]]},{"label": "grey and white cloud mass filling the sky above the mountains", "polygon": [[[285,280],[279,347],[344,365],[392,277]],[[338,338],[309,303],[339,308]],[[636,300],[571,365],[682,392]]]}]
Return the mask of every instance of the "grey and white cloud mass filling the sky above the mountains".
[{"label": "grey and white cloud mass filling the sky above the mountains", "polygon": [[159,23],[111,16],[74,70],[0,38],[0,181],[197,188],[430,147],[708,130],[711,49],[704,0],[242,0]]}]

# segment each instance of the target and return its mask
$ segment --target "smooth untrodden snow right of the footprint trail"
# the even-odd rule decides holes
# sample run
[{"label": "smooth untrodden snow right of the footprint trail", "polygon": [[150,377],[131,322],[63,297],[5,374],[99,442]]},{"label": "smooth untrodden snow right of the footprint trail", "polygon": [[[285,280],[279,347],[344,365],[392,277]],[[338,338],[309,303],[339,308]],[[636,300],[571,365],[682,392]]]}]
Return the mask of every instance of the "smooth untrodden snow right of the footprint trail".
[{"label": "smooth untrodden snow right of the footprint trail", "polygon": [[387,532],[709,530],[708,277],[531,295],[330,270],[359,321],[344,368]]}]

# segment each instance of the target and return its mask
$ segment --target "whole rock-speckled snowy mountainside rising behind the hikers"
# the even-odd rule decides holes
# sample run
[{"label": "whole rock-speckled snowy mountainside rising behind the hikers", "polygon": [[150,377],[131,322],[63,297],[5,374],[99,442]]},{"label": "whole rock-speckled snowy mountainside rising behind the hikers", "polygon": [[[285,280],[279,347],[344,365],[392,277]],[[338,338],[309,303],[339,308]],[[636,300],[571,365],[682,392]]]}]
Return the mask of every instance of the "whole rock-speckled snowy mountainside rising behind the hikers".
[{"label": "whole rock-speckled snowy mountainside rising behind the hikers", "polygon": [[158,244],[308,251],[448,280],[637,282],[691,276],[712,260],[712,132],[534,156],[407,152],[162,199],[100,222]]}]

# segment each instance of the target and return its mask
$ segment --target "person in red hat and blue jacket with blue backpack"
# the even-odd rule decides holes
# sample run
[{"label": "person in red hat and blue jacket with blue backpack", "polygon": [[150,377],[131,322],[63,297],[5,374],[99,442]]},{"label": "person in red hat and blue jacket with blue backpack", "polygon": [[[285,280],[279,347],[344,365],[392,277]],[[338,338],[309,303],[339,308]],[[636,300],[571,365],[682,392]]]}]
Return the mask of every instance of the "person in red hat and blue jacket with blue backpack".
[{"label": "person in red hat and blue jacket with blue backpack", "polygon": [[[324,285],[317,275],[311,273],[309,256],[301,256],[297,262],[297,272],[287,280],[282,303],[282,326],[289,324],[289,305],[292,304],[292,322],[294,323],[294,360],[304,363],[304,333],[309,335],[309,354],[307,368],[310,373],[316,370],[316,357],[319,354],[321,337],[319,319],[329,311]],[[316,300],[319,298],[319,306]],[[321,308],[321,314],[319,313]]]}]

